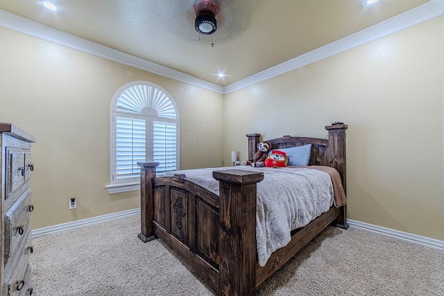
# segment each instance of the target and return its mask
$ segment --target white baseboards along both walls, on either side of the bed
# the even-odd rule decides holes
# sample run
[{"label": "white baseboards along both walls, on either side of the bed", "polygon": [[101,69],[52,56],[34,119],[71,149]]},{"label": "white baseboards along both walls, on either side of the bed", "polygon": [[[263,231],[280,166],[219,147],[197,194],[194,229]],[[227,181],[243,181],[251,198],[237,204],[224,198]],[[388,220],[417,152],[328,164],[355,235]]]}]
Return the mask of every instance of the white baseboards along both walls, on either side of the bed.
[{"label": "white baseboards along both walls, on either side of the bed", "polygon": [[[98,217],[94,217],[94,218],[87,218],[87,219],[83,219],[83,220],[77,220],[74,222],[68,222],[68,223],[63,223],[63,224],[59,224],[59,225],[35,229],[31,232],[31,236],[33,238],[36,238],[38,236],[43,236],[46,234],[53,234],[55,232],[61,232],[63,230],[67,230],[67,229],[83,227],[83,226],[87,226],[87,225],[92,225],[94,223],[100,223],[100,222],[104,222],[104,221],[108,221],[108,220],[114,220],[114,219],[123,218],[126,216],[131,216],[131,215],[135,215],[135,214],[139,214],[139,213],[140,213],[139,208],[130,209],[127,211],[119,211],[119,212],[113,213],[113,214],[98,216]],[[350,219],[347,219],[347,222],[352,227],[357,227],[359,229],[368,230],[370,232],[383,234],[385,236],[391,236],[393,238],[399,238],[404,241],[409,241],[411,243],[419,243],[421,245],[425,245],[427,247],[432,247],[434,249],[438,249],[438,250],[441,250],[444,252],[444,241],[438,241],[433,238],[427,238],[425,236],[418,236],[416,234],[409,234],[407,232],[400,232],[398,230],[394,230],[394,229],[390,229],[390,228],[386,228],[386,227],[381,227],[381,226],[377,226],[377,225],[372,225],[372,224],[368,224],[368,223],[363,223],[363,222],[350,220]]]}]

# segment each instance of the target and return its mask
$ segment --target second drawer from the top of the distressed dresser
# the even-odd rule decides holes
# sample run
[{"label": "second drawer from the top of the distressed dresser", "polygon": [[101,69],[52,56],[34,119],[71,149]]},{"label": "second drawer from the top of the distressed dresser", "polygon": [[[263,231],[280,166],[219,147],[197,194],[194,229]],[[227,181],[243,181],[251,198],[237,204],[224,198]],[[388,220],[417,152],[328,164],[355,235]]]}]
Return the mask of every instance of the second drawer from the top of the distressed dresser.
[{"label": "second drawer from the top of the distressed dresser", "polygon": [[17,252],[26,235],[31,233],[29,218],[33,211],[31,204],[31,190],[27,189],[22,196],[12,204],[4,217],[3,256],[5,265]]}]

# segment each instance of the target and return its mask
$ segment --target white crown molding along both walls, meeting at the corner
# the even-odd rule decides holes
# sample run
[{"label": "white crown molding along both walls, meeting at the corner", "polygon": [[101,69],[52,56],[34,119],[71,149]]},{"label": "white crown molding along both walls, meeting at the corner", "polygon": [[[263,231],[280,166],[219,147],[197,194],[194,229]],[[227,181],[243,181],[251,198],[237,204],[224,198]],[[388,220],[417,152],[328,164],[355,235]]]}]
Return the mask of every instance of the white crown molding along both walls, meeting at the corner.
[{"label": "white crown molding along both walls, meeting at the corner", "polygon": [[282,62],[281,64],[253,74],[252,76],[248,76],[247,78],[241,79],[225,87],[168,67],[164,67],[160,64],[156,64],[155,62],[150,62],[142,58],[137,58],[134,55],[129,55],[128,53],[111,49],[108,46],[85,40],[75,35],[71,35],[55,28],[51,28],[50,26],[40,24],[37,21],[31,21],[31,19],[26,19],[1,9],[0,26],[31,35],[42,40],[67,46],[71,49],[76,49],[78,51],[83,51],[101,58],[112,60],[114,62],[126,64],[130,67],[135,67],[137,69],[142,69],[160,76],[189,83],[190,85],[202,87],[212,92],[229,94],[230,92],[253,85],[257,82],[273,78],[282,73],[287,73],[300,67],[304,67],[312,62],[323,60],[324,58],[336,55],[337,53],[341,53],[373,40],[377,40],[380,37],[402,31],[405,28],[415,26],[423,21],[443,15],[443,12],[444,0],[429,0],[427,3],[403,12],[402,14],[392,17],[391,19],[386,19],[379,24],[375,24],[374,26],[370,26],[357,33],[343,37],[340,40],[336,40],[335,42],[322,46],[318,49],[309,51],[308,53],[288,60],[287,62]]}]

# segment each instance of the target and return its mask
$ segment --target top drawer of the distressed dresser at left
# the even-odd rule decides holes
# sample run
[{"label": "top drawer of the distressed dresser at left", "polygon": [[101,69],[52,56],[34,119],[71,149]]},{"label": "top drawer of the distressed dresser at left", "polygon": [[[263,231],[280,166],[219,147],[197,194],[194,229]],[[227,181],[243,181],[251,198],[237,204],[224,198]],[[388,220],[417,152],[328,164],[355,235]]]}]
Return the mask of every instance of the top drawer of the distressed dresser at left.
[{"label": "top drawer of the distressed dresser at left", "polygon": [[3,209],[8,209],[28,188],[34,170],[30,150],[6,147],[6,186]]}]

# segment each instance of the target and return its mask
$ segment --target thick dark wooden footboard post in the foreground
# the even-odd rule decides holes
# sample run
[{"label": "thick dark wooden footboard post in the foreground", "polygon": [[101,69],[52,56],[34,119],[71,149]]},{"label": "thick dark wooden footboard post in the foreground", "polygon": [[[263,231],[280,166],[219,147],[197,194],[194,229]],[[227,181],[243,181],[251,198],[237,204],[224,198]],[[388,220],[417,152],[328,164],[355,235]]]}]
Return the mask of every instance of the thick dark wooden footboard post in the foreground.
[{"label": "thick dark wooden footboard post in the foreground", "polygon": [[214,171],[219,180],[219,295],[254,295],[256,193],[264,173]]}]

